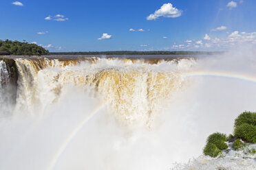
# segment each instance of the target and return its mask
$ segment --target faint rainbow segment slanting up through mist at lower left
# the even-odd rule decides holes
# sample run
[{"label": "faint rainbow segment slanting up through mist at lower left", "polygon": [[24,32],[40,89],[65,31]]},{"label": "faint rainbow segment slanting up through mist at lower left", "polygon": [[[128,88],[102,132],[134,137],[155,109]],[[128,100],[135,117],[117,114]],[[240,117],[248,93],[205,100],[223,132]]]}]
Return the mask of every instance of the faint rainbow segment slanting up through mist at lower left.
[{"label": "faint rainbow segment slanting up through mist at lower left", "polygon": [[105,104],[101,104],[100,106],[98,106],[97,108],[95,108],[91,114],[89,114],[89,116],[85,117],[85,119],[83,119],[80,123],[78,123],[78,125],[74,128],[74,130],[70,133],[69,136],[67,136],[67,138],[65,139],[64,143],[61,145],[61,147],[58,149],[58,151],[56,152],[56,154],[54,154],[54,157],[52,158],[52,161],[50,162],[49,167],[47,168],[47,170],[52,170],[54,168],[54,166],[56,165],[56,162],[58,161],[58,158],[61,157],[61,155],[63,154],[63,152],[65,151],[65,149],[67,148],[67,146],[70,144],[70,142],[72,141],[72,139],[76,136],[76,134],[78,134],[78,132],[83,128],[83,126],[85,125],[85,123],[87,123],[87,121],[89,121],[90,119],[92,119],[92,117],[94,117],[94,115],[96,115],[97,112],[99,112],[101,109],[104,108]]}]

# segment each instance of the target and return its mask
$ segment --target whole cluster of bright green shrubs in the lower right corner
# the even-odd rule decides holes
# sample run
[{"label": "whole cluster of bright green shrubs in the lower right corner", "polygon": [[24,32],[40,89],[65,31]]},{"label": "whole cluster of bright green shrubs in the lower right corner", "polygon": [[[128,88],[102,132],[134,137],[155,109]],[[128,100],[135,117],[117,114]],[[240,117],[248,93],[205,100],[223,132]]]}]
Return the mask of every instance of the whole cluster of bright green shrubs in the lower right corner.
[{"label": "whole cluster of bright green shrubs in the lower right corner", "polygon": [[[228,138],[226,134],[219,132],[211,134],[207,138],[204,155],[220,156],[223,150],[228,149],[226,141],[233,142],[232,147],[235,150],[248,147],[246,143],[256,143],[256,112],[242,112],[242,114],[239,114],[235,119],[234,127],[234,134],[230,134]],[[250,152],[249,154],[256,154],[255,149],[251,149],[248,152]]]}]

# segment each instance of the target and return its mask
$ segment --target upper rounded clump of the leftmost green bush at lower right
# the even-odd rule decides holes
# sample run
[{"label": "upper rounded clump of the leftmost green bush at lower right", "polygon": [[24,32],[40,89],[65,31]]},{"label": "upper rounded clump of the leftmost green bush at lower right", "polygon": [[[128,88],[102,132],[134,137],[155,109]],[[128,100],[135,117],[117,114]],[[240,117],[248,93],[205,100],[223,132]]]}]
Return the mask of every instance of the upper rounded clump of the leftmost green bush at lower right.
[{"label": "upper rounded clump of the leftmost green bush at lower right", "polygon": [[221,134],[219,132],[211,134],[207,138],[207,143],[213,143],[220,150],[228,148],[228,145],[226,145],[226,143],[225,143],[226,141],[228,141],[228,138],[226,137],[226,134]]}]

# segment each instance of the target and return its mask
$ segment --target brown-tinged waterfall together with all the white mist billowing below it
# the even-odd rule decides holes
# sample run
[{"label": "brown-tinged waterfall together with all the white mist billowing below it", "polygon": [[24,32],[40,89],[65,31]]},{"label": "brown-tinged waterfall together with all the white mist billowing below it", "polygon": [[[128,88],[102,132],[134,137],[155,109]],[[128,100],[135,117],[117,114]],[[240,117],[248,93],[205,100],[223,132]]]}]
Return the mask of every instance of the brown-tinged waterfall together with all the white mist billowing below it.
[{"label": "brown-tinged waterfall together with all the white mist billowing below it", "polygon": [[0,120],[0,169],[170,169],[196,158],[209,134],[231,133],[240,112],[256,110],[256,84],[183,73],[216,69],[251,75],[256,67],[250,57],[154,65],[19,59],[17,106]]}]

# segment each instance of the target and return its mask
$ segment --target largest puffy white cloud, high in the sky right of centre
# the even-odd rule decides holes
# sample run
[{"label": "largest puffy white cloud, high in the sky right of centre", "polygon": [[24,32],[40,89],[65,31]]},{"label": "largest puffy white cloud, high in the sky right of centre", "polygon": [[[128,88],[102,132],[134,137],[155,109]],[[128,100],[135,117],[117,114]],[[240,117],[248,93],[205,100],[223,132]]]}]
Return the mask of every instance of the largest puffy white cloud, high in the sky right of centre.
[{"label": "largest puffy white cloud, high in the sky right of centre", "polygon": [[156,20],[160,16],[167,17],[167,18],[176,18],[181,16],[182,10],[178,10],[177,8],[173,7],[171,3],[164,3],[159,10],[156,10],[155,13],[150,14],[147,16],[147,20]]}]

